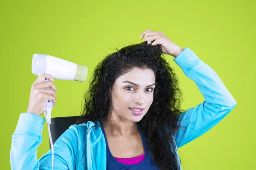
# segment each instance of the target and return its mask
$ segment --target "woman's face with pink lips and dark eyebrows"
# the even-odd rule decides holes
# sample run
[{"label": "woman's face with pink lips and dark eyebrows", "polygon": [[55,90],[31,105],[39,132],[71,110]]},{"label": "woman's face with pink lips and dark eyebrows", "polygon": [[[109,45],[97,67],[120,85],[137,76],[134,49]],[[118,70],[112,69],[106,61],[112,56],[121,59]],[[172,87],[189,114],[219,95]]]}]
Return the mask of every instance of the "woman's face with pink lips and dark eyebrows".
[{"label": "woman's face with pink lips and dark eyebrows", "polygon": [[[116,79],[111,91],[111,119],[139,122],[153,102],[155,75],[151,69],[133,68]],[[133,111],[131,108],[144,108]]]}]

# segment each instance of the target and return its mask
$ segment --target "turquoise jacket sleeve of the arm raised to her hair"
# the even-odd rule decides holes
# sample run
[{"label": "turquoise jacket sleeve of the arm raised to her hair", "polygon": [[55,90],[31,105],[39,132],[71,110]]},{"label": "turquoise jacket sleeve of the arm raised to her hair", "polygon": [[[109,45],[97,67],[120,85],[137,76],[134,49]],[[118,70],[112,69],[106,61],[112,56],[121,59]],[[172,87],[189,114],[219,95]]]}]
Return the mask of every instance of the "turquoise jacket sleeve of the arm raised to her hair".
[{"label": "turquoise jacket sleeve of the arm raised to her hair", "polygon": [[236,106],[236,100],[209,65],[186,47],[173,59],[192,79],[204,96],[204,102],[181,113],[175,133],[177,148],[198,138],[221,121]]}]

